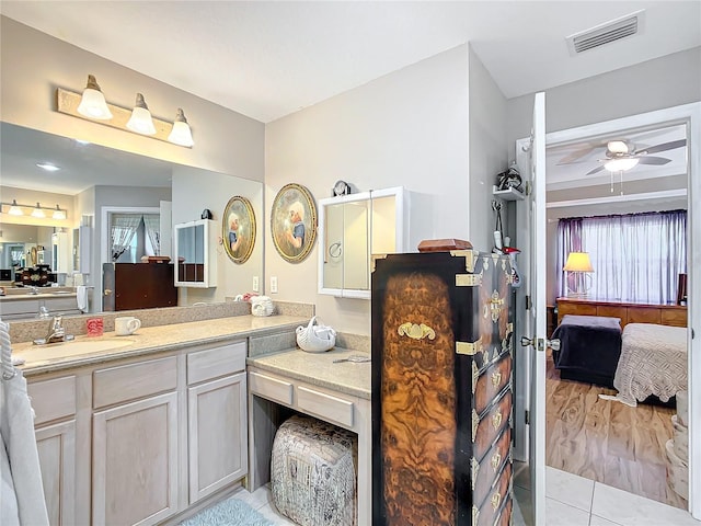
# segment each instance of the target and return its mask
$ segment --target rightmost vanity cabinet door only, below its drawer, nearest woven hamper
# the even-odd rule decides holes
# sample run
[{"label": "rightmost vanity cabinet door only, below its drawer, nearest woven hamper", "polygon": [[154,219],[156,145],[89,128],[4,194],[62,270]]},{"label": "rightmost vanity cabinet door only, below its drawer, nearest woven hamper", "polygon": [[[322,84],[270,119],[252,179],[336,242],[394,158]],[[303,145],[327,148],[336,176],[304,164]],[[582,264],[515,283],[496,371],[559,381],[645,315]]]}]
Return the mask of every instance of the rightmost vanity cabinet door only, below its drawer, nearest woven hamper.
[{"label": "rightmost vanity cabinet door only, below its drawer, nearest woven hamper", "polygon": [[189,502],[248,473],[245,373],[191,387]]}]

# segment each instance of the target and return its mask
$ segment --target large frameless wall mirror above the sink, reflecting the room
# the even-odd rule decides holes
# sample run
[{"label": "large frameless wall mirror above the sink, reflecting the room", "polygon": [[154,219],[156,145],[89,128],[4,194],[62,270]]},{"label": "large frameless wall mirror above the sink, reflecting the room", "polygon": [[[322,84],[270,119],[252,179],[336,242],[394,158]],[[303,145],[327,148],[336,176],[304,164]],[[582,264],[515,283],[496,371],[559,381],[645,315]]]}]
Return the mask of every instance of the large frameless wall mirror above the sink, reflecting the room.
[{"label": "large frameless wall mirror above the sink, reflecting the room", "polygon": [[[104,302],[105,263],[136,265],[137,274],[168,276],[169,273],[143,272],[140,265],[173,265],[173,196],[186,196],[197,216],[187,210],[187,220],[199,219],[202,208],[210,208],[215,220],[232,195],[250,199],[256,217],[263,214],[263,184],[232,175],[183,167],[143,156],[105,148],[60,137],[22,126],[1,123],[0,159],[2,226],[0,227],[0,312],[4,318],[32,318],[38,312],[12,315],[20,296],[30,294],[62,295],[66,313],[79,313],[78,305],[70,305],[77,291],[88,295],[82,312],[110,310]],[[50,164],[58,170],[48,172],[38,164]],[[203,188],[193,195],[193,181]],[[212,198],[207,186],[217,187]],[[219,197],[219,194],[220,197]],[[231,195],[229,195],[231,194]],[[218,203],[217,199],[221,199]],[[11,215],[16,202],[23,205],[22,215]],[[44,217],[32,215],[41,206],[48,210]],[[55,217],[53,208],[65,210],[65,218]],[[226,255],[221,245],[211,251],[219,263],[218,283],[197,293],[177,288],[177,305],[195,301],[223,301],[227,297],[250,291],[251,284],[263,275],[262,237],[245,264],[237,265]],[[217,229],[215,229],[217,230]],[[257,236],[256,236],[257,237]],[[141,271],[139,271],[139,268]],[[37,277],[38,276],[38,277]],[[24,278],[23,278],[24,277]],[[147,277],[168,279],[168,277]],[[154,284],[148,284],[154,285]],[[156,284],[158,286],[158,284]],[[173,287],[171,281],[163,284]],[[134,294],[139,285],[126,281],[117,294]],[[85,290],[79,290],[84,287]],[[143,306],[146,308],[148,306]],[[119,310],[119,309],[116,309]],[[51,312],[54,313],[54,312]],[[58,312],[56,312],[58,313]]]}]

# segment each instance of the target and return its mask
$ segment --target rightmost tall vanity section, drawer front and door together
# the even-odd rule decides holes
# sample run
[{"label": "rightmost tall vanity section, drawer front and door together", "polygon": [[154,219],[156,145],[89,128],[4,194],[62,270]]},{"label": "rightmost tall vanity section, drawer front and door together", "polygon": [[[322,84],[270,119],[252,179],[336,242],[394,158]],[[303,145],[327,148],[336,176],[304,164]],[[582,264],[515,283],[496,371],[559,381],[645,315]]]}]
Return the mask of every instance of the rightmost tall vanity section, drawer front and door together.
[{"label": "rightmost tall vanity section, drawer front and door together", "polygon": [[248,473],[246,343],[187,354],[189,503]]}]

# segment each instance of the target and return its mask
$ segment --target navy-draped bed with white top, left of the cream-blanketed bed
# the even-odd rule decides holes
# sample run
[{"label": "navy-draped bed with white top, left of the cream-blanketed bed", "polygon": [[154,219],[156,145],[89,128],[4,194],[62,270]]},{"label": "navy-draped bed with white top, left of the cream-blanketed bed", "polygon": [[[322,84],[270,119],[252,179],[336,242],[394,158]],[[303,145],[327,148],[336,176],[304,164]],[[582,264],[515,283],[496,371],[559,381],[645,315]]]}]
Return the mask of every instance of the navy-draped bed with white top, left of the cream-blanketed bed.
[{"label": "navy-draped bed with white top, left of the cream-blanketed bed", "polygon": [[552,354],[561,378],[613,387],[621,355],[620,318],[566,315],[552,338],[560,340],[560,350]]}]

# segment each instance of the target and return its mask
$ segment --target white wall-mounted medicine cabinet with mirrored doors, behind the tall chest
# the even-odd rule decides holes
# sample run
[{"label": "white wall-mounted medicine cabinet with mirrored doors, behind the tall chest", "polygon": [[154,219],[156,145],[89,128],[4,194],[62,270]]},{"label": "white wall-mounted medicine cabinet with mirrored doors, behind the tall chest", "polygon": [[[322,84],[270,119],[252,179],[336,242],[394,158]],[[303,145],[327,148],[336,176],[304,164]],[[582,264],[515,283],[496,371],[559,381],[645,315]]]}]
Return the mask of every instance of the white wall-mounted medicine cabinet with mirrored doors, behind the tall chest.
[{"label": "white wall-mounted medicine cabinet with mirrored doors, behind the tall chest", "polygon": [[319,199],[319,294],[370,298],[372,255],[405,252],[403,187]]}]

